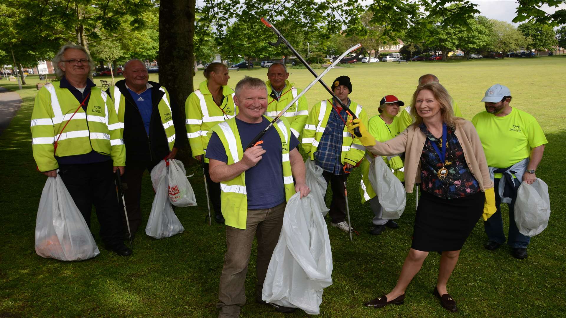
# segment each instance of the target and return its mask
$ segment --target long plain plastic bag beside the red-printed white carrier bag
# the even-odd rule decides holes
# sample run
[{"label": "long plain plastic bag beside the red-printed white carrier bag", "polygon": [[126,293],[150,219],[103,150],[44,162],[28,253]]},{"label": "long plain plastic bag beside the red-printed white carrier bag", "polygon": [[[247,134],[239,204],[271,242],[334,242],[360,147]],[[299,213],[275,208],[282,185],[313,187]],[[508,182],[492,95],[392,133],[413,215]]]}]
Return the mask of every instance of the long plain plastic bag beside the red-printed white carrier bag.
[{"label": "long plain plastic bag beside the red-printed white carrier bag", "polygon": [[151,170],[155,197],[145,226],[145,234],[152,238],[168,238],[185,231],[169,201],[167,162],[161,161]]}]

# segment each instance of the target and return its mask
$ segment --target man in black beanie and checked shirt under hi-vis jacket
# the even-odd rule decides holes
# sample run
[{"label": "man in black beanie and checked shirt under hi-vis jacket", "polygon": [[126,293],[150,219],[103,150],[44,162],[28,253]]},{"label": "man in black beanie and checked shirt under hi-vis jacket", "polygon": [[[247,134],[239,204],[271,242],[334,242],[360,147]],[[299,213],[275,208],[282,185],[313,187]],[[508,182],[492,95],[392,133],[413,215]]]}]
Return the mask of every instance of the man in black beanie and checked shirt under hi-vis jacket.
[{"label": "man in black beanie and checked shirt under hi-vis jacket", "polygon": [[[352,91],[350,78],[339,76],[332,82],[332,91],[367,126],[366,111],[348,97]],[[346,131],[346,121],[350,119],[340,102],[334,98],[321,101],[308,113],[301,140],[310,160],[314,160],[314,164],[324,170],[323,177],[331,184],[331,225],[345,232],[350,231],[350,226],[346,222],[344,182],[366,152],[359,139],[353,139]]]}]

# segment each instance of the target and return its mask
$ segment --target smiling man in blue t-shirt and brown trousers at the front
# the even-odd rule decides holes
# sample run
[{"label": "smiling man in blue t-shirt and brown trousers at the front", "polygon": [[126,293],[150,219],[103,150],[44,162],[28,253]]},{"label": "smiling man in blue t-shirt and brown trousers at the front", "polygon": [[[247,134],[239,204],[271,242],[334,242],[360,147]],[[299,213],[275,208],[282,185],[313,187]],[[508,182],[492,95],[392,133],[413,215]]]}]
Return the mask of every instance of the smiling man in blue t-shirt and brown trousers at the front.
[{"label": "smiling man in blue t-shirt and brown trousers at the front", "polygon": [[[263,80],[246,76],[236,85],[235,93],[234,104],[238,106],[239,113],[235,118],[222,123],[222,130],[231,130],[236,138],[239,135],[240,140],[235,140],[235,143],[241,143],[243,148],[269,124],[269,120],[263,116],[267,109],[267,88]],[[233,124],[232,121],[235,122],[237,130],[229,127],[229,124]],[[228,134],[230,132],[225,133]],[[297,149],[299,141],[293,134],[288,136],[289,162],[295,179],[295,191],[300,191],[301,197],[306,196],[310,189],[305,183],[305,163]],[[246,303],[244,285],[254,236],[258,238],[258,282],[255,285],[255,300],[265,304],[261,300],[261,289],[273,249],[279,239],[285,212],[283,165],[286,162],[283,162],[282,140],[275,127],[271,127],[261,141],[261,145],[245,149],[243,157],[230,165],[228,156],[231,156],[232,149],[224,148],[221,137],[214,132],[208,142],[206,157],[210,160],[209,172],[212,181],[234,181],[245,172],[245,186],[240,187],[244,189],[242,194],[230,188],[234,186],[221,186],[222,191],[226,191],[222,192],[221,198],[226,200],[222,202],[222,214],[226,220],[227,251],[220,276],[219,302],[216,305],[220,309],[218,317],[238,317],[240,307]],[[234,220],[235,212],[228,209],[243,195],[247,199],[247,214],[245,229],[240,229],[231,226],[231,222],[235,222],[231,221]],[[296,309],[275,304],[272,306],[280,312],[293,312]]]}]

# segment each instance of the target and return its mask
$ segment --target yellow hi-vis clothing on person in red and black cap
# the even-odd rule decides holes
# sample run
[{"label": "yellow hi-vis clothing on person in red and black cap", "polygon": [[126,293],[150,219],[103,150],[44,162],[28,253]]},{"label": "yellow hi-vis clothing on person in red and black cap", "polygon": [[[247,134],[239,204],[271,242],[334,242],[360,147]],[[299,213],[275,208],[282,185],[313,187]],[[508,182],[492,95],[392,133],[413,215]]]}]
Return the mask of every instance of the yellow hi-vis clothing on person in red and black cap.
[{"label": "yellow hi-vis clothing on person in red and black cap", "polygon": [[[380,143],[393,139],[405,130],[405,127],[400,127],[401,121],[397,117],[393,117],[391,124],[386,124],[379,115],[372,117],[367,123],[367,131],[375,137]],[[383,161],[391,169],[391,172],[400,181],[405,181],[405,167],[401,157],[397,154],[395,156],[383,156]],[[366,152],[366,156],[362,161],[362,179],[359,182],[359,195],[362,198],[362,204],[375,196],[374,188],[371,186],[368,174],[370,172],[371,160],[374,160],[374,154]]]}]

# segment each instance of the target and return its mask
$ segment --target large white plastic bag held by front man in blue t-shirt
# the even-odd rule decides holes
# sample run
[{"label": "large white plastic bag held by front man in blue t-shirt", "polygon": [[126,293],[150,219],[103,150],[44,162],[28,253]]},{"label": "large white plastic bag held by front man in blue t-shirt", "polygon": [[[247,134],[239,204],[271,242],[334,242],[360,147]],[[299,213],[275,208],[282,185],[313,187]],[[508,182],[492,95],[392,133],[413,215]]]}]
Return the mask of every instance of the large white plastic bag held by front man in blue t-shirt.
[{"label": "large white plastic bag held by front man in blue t-shirt", "polygon": [[332,251],[317,200],[299,197],[291,196],[285,208],[261,299],[318,315],[323,289],[332,285]]}]

